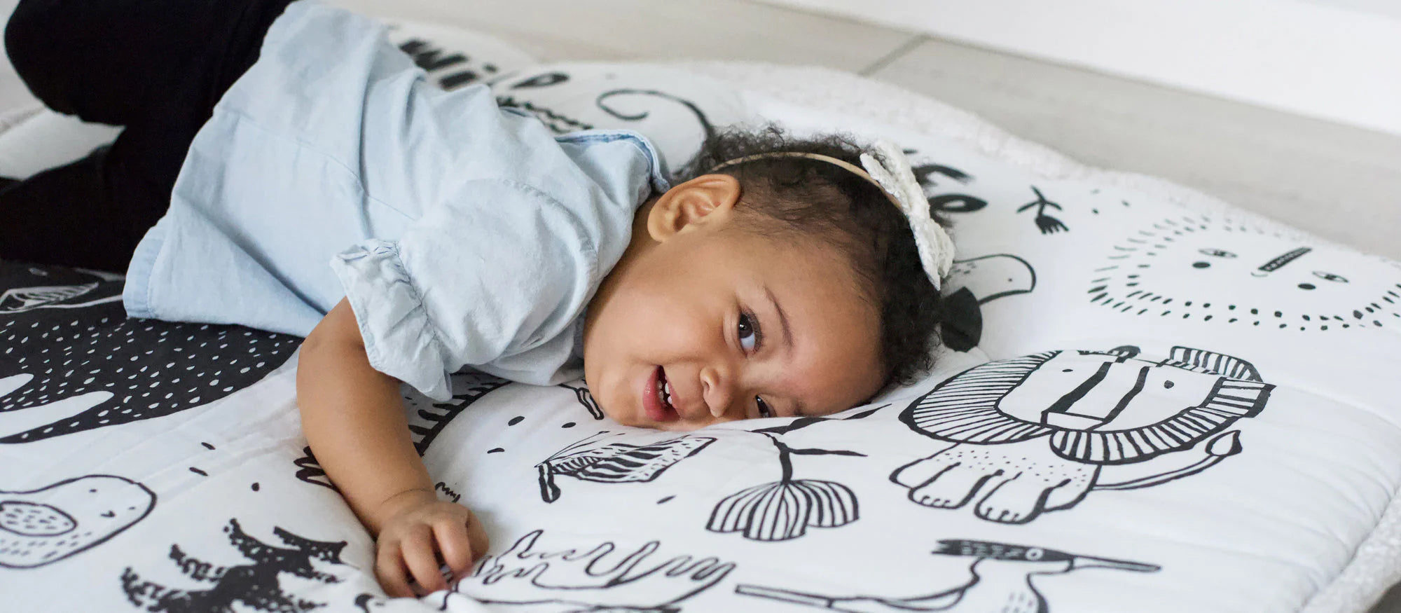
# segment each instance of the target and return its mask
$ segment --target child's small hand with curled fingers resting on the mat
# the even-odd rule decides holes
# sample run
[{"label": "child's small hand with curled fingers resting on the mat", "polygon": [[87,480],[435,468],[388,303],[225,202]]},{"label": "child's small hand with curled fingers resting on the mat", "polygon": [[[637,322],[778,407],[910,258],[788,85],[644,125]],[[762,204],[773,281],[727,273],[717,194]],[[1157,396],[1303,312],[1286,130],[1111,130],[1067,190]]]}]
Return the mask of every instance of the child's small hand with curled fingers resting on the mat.
[{"label": "child's small hand with curled fingers resting on the mat", "polygon": [[422,593],[447,589],[441,565],[458,579],[472,570],[472,561],[486,553],[486,530],[472,511],[444,502],[427,490],[401,493],[382,505],[388,519],[375,542],[374,574],[389,596],[416,596],[409,578]]}]

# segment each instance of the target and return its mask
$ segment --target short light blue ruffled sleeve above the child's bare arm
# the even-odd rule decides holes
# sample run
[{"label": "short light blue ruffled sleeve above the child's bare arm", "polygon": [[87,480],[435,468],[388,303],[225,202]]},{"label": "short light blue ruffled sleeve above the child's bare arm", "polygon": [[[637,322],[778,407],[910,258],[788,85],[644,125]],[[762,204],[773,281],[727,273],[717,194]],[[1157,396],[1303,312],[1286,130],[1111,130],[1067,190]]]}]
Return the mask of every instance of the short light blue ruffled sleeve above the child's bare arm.
[{"label": "short light blue ruffled sleeve above the child's bare arm", "polygon": [[[587,207],[598,209],[611,207]],[[630,210],[618,209],[580,216],[521,183],[469,181],[398,241],[338,253],[331,265],[370,364],[436,400],[451,397],[450,374],[502,358],[534,360],[518,381],[548,385],[569,357],[559,339],[573,336],[598,286],[595,237],[630,224]],[[530,353],[560,346],[559,355]]]}]

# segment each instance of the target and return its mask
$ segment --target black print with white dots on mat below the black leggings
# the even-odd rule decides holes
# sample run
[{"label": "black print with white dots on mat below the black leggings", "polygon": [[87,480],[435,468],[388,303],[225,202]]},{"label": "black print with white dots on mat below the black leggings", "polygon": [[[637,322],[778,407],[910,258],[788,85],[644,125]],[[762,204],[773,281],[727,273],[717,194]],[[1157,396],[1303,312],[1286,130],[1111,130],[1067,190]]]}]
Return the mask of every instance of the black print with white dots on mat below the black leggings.
[{"label": "black print with white dots on mat below the black leggings", "polygon": [[[21,306],[0,305],[0,378],[32,376],[0,396],[0,411],[90,392],[112,393],[62,421],[0,432],[0,442],[39,441],[207,404],[262,379],[301,344],[296,336],[242,326],[127,319],[119,300],[99,300],[120,297],[122,281],[92,279],[64,269],[0,262],[0,291],[8,295],[41,295],[17,291],[39,284],[91,286],[83,294],[49,291],[56,297],[52,304],[31,300]],[[85,306],[73,308],[76,304]]]}]

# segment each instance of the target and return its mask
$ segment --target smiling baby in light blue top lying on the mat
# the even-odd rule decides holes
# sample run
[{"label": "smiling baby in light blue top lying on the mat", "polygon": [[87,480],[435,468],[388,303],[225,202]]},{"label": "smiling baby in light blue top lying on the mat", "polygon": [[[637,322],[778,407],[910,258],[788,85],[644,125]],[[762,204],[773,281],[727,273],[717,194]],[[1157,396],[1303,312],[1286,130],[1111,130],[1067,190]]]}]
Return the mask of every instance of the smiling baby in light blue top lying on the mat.
[{"label": "smiling baby in light blue top lying on the mat", "polygon": [[[314,0],[80,4],[22,0],[11,60],[55,109],[127,127],[0,192],[31,216],[0,258],[129,262],[132,316],[305,336],[303,430],[391,595],[488,546],[436,497],[402,383],[581,375],[619,424],[695,430],[836,413],[929,367],[953,246],[897,148],[730,132],[668,176],[639,134],[555,137],[483,85],[437,90]],[[73,25],[119,18],[163,25]],[[31,238],[59,237],[24,209],[55,200],[64,232],[108,237]]]}]

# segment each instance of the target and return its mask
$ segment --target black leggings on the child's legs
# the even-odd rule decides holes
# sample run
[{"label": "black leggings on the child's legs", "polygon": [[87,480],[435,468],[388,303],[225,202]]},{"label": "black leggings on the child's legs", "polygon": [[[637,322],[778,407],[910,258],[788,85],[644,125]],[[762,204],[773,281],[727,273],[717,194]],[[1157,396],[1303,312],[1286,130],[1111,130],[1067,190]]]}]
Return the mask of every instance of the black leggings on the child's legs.
[{"label": "black leggings on the child's legs", "polygon": [[0,259],[125,272],[195,133],[293,0],[21,0],[4,31],[49,108],[116,141],[0,188]]}]

